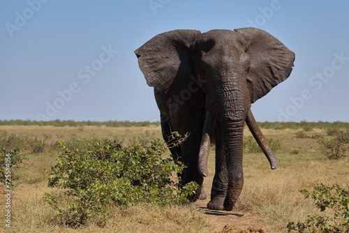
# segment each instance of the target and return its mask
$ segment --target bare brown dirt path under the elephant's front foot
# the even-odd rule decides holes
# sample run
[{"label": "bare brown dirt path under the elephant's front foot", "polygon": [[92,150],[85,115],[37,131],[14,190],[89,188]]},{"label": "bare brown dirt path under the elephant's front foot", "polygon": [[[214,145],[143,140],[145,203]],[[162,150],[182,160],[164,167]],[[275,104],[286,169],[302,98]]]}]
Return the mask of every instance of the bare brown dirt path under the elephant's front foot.
[{"label": "bare brown dirt path under the elephant's front foot", "polygon": [[245,232],[276,232],[271,226],[262,222],[260,217],[243,211],[215,211],[206,209],[207,200],[195,202],[198,209],[204,211],[209,222],[215,226],[215,232],[245,233]]}]

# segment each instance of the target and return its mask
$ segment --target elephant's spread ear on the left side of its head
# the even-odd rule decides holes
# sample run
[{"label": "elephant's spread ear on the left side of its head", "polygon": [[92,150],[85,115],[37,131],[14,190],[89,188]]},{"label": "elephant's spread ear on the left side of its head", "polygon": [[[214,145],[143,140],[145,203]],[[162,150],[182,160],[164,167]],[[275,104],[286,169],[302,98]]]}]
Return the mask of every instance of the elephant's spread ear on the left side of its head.
[{"label": "elephant's spread ear on the left side of its head", "polygon": [[168,93],[174,79],[190,77],[191,43],[200,34],[195,30],[174,30],[158,34],[142,45],[135,54],[147,84]]}]

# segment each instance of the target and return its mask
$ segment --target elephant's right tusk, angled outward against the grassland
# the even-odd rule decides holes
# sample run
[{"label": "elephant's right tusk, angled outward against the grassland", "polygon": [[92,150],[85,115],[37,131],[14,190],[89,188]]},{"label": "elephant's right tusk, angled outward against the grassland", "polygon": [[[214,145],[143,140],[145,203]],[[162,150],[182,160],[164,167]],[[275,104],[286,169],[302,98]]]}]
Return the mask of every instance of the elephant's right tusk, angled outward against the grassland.
[{"label": "elephant's right tusk, angled outward against the grassland", "polygon": [[265,140],[265,137],[262,134],[262,131],[260,131],[260,128],[258,127],[258,124],[255,121],[255,118],[253,117],[251,110],[248,110],[246,123],[253,137],[255,138],[258,145],[262,149],[263,153],[265,153],[265,156],[267,156],[267,159],[269,160],[269,163],[270,163],[270,167],[272,167],[272,169],[276,169],[276,167],[278,167],[278,162],[276,161],[274,152],[272,151],[272,148],[270,148],[267,140]]}]

